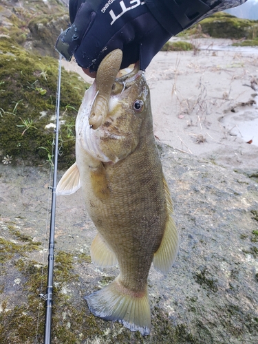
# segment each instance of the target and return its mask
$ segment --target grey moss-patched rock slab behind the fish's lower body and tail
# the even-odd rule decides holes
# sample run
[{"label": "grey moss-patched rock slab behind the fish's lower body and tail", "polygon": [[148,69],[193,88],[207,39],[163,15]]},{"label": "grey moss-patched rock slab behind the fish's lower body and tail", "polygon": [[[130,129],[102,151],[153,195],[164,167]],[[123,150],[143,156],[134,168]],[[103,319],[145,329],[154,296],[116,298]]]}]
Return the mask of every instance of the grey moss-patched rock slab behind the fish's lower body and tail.
[{"label": "grey moss-patched rock slab behind the fish's lower body and tail", "polygon": [[[257,180],[159,142],[158,147],[180,252],[168,275],[151,268],[151,335],[131,333],[87,308],[83,296],[103,288],[118,268],[92,265],[96,230],[79,190],[56,204],[52,343],[257,343]],[[1,164],[0,175],[0,339],[40,343],[44,305],[37,294],[46,286],[50,176],[42,168],[11,164]]]}]

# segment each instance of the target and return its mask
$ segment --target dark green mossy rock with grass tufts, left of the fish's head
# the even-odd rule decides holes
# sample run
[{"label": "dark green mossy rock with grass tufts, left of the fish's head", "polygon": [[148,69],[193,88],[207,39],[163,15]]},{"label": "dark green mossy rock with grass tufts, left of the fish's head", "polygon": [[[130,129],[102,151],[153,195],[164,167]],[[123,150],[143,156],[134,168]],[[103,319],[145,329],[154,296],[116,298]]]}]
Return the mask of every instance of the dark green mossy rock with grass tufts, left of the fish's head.
[{"label": "dark green mossy rock with grass tufts, left of the fish's head", "polygon": [[[58,61],[26,52],[4,37],[0,52],[0,158],[44,164],[52,156]],[[77,74],[62,69],[60,168],[74,162],[74,123],[87,87]]]}]

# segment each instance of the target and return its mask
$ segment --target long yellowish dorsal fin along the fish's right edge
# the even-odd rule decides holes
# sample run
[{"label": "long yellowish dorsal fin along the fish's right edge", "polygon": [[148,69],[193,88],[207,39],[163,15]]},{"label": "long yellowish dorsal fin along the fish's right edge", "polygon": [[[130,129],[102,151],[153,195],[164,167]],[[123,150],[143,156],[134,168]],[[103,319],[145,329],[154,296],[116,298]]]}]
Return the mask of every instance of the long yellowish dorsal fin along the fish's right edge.
[{"label": "long yellowish dorsal fin along the fish's right edge", "polygon": [[163,178],[164,190],[166,193],[166,208],[168,212],[168,218],[166,220],[166,228],[164,235],[153,257],[153,266],[156,270],[159,270],[163,274],[166,274],[171,270],[175,258],[178,255],[179,235],[178,230],[175,227],[175,222],[172,218],[173,205],[171,201],[171,195],[169,192],[169,186],[166,184],[166,180]]}]

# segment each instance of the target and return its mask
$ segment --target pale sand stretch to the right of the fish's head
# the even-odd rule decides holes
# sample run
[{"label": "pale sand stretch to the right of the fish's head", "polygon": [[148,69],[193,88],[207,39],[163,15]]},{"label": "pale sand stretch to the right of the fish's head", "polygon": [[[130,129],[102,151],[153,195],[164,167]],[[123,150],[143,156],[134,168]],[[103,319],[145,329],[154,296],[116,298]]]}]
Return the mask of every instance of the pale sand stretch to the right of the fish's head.
[{"label": "pale sand stretch to the right of the fish's head", "polygon": [[[157,140],[225,167],[257,171],[258,49],[233,47],[227,39],[190,42],[198,50],[159,52],[146,70]],[[63,65],[92,83],[74,61]]]}]

